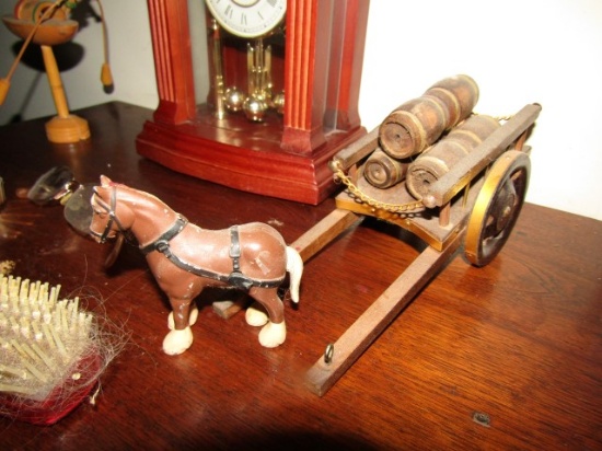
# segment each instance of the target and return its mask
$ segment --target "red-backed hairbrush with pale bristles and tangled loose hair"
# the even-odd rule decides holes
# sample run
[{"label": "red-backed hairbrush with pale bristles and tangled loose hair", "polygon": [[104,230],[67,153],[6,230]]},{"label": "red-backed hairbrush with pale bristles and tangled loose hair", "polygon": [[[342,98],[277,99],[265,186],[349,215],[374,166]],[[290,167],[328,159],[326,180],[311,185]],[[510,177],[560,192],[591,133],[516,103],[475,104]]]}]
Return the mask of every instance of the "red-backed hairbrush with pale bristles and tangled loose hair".
[{"label": "red-backed hairbrush with pale bristles and tangled loose hair", "polygon": [[59,291],[0,274],[0,414],[54,424],[84,400],[107,363],[95,316]]}]

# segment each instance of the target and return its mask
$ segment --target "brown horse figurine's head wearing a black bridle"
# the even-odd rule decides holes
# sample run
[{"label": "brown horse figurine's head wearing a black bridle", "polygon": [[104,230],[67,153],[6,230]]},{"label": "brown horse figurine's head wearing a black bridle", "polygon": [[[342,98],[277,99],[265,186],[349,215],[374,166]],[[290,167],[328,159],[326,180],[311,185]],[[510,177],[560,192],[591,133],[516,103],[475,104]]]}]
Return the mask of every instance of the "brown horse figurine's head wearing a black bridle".
[{"label": "brown horse figurine's head wearing a black bridle", "polygon": [[131,209],[118,201],[119,187],[125,186],[113,183],[104,175],[101,175],[101,185],[94,187],[90,200],[93,210],[90,233],[99,243],[125,233],[134,222]]}]

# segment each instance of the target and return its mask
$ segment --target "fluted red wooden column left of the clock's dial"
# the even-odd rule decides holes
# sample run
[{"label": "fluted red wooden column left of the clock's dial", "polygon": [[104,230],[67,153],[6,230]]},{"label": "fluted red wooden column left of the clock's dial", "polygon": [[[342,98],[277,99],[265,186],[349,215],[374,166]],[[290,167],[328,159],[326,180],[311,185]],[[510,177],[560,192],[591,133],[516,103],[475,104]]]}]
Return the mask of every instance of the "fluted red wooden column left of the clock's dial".
[{"label": "fluted red wooden column left of the clock's dial", "polygon": [[159,107],[154,120],[182,124],[195,116],[186,0],[148,0]]}]

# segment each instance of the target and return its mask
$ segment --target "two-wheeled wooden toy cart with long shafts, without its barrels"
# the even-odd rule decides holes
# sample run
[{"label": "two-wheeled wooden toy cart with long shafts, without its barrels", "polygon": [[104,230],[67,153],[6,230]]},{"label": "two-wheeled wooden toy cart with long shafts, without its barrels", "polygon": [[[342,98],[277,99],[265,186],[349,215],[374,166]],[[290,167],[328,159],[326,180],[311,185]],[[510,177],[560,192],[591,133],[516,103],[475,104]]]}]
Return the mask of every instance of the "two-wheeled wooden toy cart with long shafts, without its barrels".
[{"label": "two-wheeled wooden toy cart with long shafts, without its barrels", "polygon": [[384,194],[371,196],[358,187],[361,163],[378,146],[378,129],[334,157],[331,169],[347,189],[336,197],[337,208],[292,244],[303,261],[366,216],[397,224],[428,246],[336,343],[326,345],[306,373],[312,392],[326,393],[462,245],[476,266],[498,254],[524,200],[530,173],[524,141],[540,112],[537,104],[524,106],[429,186],[421,200],[396,188],[397,200],[391,203]]}]

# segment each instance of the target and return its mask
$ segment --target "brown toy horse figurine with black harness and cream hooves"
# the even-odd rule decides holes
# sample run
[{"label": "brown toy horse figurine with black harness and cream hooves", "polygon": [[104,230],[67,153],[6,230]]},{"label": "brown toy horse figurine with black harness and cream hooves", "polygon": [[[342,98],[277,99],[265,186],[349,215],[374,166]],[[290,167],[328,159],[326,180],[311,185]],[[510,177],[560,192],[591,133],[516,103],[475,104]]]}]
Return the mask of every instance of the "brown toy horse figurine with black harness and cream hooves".
[{"label": "brown toy horse figurine with black harness and cream hooves", "polygon": [[259,343],[276,347],[285,342],[285,307],[277,291],[289,273],[291,299],[299,302],[303,262],[274,228],[253,222],[201,229],[155,196],[106,176],[94,187],[91,204],[90,231],[96,241],[103,243],[126,231],[134,234],[169,297],[173,311],[167,321],[171,332],[163,340],[166,354],[182,354],[193,344],[190,325],[198,311],[190,304],[209,286],[246,290],[265,309],[251,307],[245,313],[248,324],[264,326]]}]

